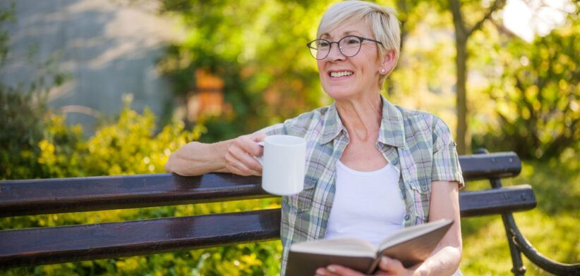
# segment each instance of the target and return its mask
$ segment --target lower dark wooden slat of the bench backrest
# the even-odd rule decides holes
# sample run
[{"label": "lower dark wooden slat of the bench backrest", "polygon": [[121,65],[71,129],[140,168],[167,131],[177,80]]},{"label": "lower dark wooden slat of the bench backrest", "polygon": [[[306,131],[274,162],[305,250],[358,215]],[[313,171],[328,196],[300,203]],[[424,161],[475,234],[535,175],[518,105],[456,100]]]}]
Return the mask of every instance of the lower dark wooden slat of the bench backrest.
[{"label": "lower dark wooden slat of the bench backrest", "polygon": [[[459,194],[461,217],[529,210],[529,185]],[[278,239],[280,210],[0,231],[0,267],[117,258]]]}]

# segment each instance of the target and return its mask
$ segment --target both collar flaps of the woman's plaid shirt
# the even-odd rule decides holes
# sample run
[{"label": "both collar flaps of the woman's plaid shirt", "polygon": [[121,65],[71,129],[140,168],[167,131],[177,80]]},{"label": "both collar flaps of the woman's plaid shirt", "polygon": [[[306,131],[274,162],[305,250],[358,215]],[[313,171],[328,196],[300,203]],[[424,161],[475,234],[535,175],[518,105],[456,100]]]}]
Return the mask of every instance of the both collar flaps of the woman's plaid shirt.
[{"label": "both collar flaps of the woman's plaid shirt", "polygon": [[[380,124],[378,142],[390,146],[404,147],[405,129],[403,115],[401,114],[401,111],[399,111],[399,109],[392,103],[389,103],[385,97],[380,95],[380,98],[382,100],[382,121]],[[340,132],[342,132],[342,130],[345,130],[337,111],[336,102],[329,106],[323,120],[324,125],[322,125],[320,144],[326,144],[332,141],[340,134]]]}]

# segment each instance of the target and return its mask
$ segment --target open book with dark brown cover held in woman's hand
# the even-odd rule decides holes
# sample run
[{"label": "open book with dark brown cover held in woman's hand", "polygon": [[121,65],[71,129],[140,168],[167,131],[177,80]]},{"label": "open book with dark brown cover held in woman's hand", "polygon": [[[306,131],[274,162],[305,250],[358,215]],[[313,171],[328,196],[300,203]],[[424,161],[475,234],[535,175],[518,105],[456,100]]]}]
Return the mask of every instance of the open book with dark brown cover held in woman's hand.
[{"label": "open book with dark brown cover held in woman's hand", "polygon": [[287,276],[315,275],[317,268],[343,265],[373,274],[382,256],[396,258],[406,268],[425,261],[453,220],[437,220],[401,229],[385,238],[378,249],[361,239],[336,238],[298,242],[290,246]]}]

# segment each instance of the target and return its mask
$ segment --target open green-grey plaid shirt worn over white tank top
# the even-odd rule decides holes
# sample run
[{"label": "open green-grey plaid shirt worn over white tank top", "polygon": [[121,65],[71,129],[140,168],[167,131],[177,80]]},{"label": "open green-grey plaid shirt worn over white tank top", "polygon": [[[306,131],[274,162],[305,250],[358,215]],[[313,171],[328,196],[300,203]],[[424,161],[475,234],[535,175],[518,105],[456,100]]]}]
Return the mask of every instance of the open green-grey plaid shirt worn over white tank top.
[{"label": "open green-grey plaid shirt worn over white tank top", "polygon": [[[455,142],[449,128],[430,113],[409,111],[382,98],[382,121],[377,149],[399,171],[399,189],[404,201],[405,227],[427,222],[431,182],[463,177]],[[315,109],[266,127],[267,135],[288,134],[306,139],[304,190],[282,198],[282,275],[290,245],[323,239],[334,200],[336,163],[349,133],[334,104]]]}]

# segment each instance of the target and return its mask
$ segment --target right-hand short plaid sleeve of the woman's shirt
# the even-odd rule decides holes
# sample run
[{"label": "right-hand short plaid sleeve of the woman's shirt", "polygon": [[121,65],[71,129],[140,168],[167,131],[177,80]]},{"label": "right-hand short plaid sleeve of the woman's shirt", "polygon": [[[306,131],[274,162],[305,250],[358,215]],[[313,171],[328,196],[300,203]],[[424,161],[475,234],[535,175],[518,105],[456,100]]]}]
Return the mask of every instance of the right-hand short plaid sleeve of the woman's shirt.
[{"label": "right-hand short plaid sleeve of the woman's shirt", "polygon": [[435,117],[433,124],[431,181],[454,181],[459,183],[459,189],[465,187],[455,141],[449,131],[449,127],[437,117]]}]

